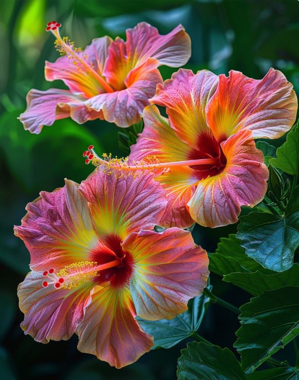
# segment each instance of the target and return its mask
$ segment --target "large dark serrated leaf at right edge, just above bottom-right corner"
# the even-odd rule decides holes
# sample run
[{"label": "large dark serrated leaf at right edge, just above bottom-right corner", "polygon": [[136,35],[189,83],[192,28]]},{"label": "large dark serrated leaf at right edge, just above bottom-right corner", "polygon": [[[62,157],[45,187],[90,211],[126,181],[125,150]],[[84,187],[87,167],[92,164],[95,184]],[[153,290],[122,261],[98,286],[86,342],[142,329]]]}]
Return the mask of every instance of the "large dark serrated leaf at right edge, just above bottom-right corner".
[{"label": "large dark serrated leaf at right edge, just above bottom-right corner", "polygon": [[234,347],[250,374],[299,335],[299,287],[268,290],[241,306]]}]

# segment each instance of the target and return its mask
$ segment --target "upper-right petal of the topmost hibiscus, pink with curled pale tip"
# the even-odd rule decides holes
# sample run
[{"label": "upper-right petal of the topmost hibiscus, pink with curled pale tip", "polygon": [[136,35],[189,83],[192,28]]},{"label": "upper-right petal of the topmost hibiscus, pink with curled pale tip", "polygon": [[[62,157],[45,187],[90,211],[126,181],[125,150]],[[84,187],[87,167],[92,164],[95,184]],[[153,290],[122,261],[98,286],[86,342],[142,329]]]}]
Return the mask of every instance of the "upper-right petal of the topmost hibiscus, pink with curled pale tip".
[{"label": "upper-right petal of the topmost hibiscus, pink with curled pale tip", "polygon": [[182,25],[166,35],[146,22],[137,24],[126,31],[127,42],[121,38],[110,45],[103,71],[107,82],[116,90],[123,89],[126,76],[134,67],[148,58],[155,58],[158,65],[179,67],[187,63],[191,55],[189,35]]}]

